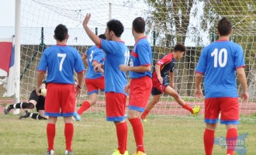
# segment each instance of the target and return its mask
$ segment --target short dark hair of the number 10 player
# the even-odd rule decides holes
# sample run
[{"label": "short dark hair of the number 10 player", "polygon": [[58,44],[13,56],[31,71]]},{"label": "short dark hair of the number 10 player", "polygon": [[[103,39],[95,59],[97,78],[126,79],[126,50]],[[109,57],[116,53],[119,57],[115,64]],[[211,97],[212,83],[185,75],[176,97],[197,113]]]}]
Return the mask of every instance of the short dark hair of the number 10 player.
[{"label": "short dark hair of the number 10 player", "polygon": [[227,36],[230,34],[232,30],[232,23],[230,22],[229,19],[223,17],[223,19],[220,19],[217,29],[220,33],[220,36]]}]

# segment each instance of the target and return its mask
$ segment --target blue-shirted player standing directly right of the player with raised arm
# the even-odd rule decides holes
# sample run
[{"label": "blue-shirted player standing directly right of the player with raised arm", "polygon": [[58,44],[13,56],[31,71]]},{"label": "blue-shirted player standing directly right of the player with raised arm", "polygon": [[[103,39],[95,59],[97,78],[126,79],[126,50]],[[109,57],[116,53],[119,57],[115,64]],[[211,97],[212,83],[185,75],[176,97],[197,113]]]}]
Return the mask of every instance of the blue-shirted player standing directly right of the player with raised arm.
[{"label": "blue-shirted player standing directly right of the player with raised arm", "polygon": [[144,155],[144,129],[140,121],[140,113],[144,112],[152,88],[151,71],[152,51],[145,36],[145,21],[141,17],[133,20],[133,36],[135,45],[130,56],[130,66],[120,65],[121,71],[130,71],[130,82],[126,85],[126,92],[130,92],[128,119],[133,126],[137,153]]}]

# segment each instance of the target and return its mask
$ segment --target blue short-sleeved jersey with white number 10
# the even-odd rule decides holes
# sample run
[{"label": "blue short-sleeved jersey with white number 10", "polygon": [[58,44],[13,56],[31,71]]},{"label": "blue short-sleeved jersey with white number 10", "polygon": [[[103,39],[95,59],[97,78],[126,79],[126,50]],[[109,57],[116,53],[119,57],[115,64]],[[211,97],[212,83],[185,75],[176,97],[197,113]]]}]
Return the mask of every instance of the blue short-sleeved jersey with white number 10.
[{"label": "blue short-sleeved jersey with white number 10", "polygon": [[237,43],[219,40],[205,47],[195,72],[205,74],[206,98],[237,98],[236,69],[244,66],[244,51]]}]

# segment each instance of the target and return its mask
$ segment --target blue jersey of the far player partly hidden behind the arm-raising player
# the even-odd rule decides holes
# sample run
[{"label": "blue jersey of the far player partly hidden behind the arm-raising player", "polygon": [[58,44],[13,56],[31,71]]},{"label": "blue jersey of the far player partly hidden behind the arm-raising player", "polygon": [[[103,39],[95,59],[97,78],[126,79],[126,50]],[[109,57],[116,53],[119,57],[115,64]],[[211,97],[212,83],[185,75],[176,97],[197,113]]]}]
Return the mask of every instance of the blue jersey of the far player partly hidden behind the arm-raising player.
[{"label": "blue jersey of the far player partly hidden behind the arm-raising player", "polygon": [[85,77],[89,79],[102,77],[103,74],[101,72],[94,71],[92,62],[97,61],[99,64],[104,64],[105,53],[103,52],[103,50],[99,49],[96,46],[93,46],[86,51],[85,55],[87,55],[88,60],[88,71],[86,72]]}]

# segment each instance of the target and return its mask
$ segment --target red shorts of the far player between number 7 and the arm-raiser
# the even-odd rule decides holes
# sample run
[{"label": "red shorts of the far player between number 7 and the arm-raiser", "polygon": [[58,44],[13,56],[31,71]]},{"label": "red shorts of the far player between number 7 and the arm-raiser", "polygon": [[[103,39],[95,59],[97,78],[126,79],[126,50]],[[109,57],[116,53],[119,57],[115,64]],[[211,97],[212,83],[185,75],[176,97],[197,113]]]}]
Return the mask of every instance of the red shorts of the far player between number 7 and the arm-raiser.
[{"label": "red shorts of the far player between number 7 and the arm-raiser", "polygon": [[95,79],[85,78],[85,85],[88,95],[91,95],[92,93],[99,94],[99,89],[101,91],[104,91],[105,89],[105,80],[104,77],[99,77]]}]

